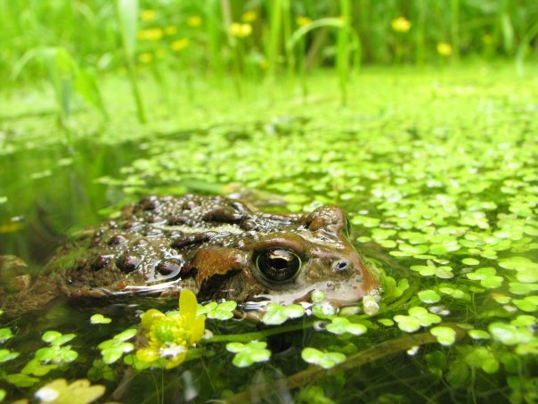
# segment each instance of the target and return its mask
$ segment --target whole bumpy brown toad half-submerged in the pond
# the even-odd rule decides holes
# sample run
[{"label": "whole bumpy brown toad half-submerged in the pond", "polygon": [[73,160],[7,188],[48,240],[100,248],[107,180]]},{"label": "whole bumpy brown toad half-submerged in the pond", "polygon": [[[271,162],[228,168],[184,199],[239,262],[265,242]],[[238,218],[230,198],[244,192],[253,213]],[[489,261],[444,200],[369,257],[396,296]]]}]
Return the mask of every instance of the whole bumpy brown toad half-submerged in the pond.
[{"label": "whole bumpy brown toad half-submerged in the pond", "polygon": [[[298,271],[288,274],[282,257]],[[269,275],[267,260],[274,264]],[[58,297],[127,302],[176,296],[182,288],[200,301],[282,303],[309,301],[322,290],[342,305],[378,287],[346,239],[346,218],[337,207],[274,215],[220,196],[187,194],[145,197],[118,219],[82,232],[31,285],[0,305],[20,313]]]}]

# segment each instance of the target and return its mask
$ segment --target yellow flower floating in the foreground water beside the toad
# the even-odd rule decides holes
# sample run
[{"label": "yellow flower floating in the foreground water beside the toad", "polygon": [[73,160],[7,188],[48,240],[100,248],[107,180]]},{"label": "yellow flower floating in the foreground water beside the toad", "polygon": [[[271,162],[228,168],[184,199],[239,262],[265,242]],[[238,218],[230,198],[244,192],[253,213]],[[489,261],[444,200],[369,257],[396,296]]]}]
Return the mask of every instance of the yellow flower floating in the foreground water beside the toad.
[{"label": "yellow flower floating in the foreground water beside the toad", "polygon": [[158,309],[149,309],[142,315],[142,327],[147,331],[146,347],[136,351],[136,358],[144,362],[166,360],[171,369],[181,365],[187,350],[199,342],[204,334],[204,316],[196,316],[197,301],[194,293],[183,290],[179,295],[179,314],[168,315]]}]

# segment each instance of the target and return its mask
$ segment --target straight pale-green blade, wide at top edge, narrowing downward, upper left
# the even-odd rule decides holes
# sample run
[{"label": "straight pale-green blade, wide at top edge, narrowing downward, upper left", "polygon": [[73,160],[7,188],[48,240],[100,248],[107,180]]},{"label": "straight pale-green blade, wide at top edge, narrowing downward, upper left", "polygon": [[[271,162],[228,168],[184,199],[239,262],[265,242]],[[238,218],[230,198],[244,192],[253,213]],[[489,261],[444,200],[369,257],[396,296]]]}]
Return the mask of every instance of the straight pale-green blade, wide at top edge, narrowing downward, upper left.
[{"label": "straight pale-green blade, wide at top edge, narrowing downward, upper left", "polygon": [[138,0],[117,0],[116,16],[118,20],[119,32],[121,34],[121,44],[126,54],[126,68],[135,97],[136,112],[140,123],[145,123],[145,112],[135,75],[135,52],[136,52],[136,31],[138,26]]}]

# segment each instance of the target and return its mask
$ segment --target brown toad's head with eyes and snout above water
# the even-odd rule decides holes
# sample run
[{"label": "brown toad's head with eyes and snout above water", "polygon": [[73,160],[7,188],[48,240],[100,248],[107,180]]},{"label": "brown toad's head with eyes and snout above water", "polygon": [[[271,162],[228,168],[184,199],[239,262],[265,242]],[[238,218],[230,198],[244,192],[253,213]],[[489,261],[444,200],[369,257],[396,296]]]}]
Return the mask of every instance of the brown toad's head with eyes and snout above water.
[{"label": "brown toad's head with eyes and snout above water", "polygon": [[[233,248],[205,248],[195,266],[201,296],[235,301],[308,302],[322,291],[343,306],[377,290],[378,280],[348,241],[342,211],[322,206],[277,231]],[[216,277],[215,277],[216,276]]]}]

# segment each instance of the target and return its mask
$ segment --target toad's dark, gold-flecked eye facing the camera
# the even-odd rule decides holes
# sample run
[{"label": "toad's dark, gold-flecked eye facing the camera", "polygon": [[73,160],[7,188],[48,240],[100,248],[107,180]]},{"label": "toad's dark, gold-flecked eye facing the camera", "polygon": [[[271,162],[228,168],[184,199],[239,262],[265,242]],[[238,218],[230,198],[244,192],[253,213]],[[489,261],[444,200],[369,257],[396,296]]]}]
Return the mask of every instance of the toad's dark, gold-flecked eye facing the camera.
[{"label": "toad's dark, gold-flecked eye facing the camera", "polygon": [[283,249],[261,251],[255,262],[265,280],[277,283],[293,279],[301,268],[299,256],[293,251]]}]

